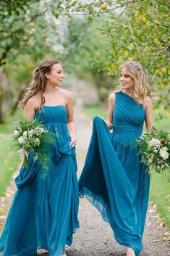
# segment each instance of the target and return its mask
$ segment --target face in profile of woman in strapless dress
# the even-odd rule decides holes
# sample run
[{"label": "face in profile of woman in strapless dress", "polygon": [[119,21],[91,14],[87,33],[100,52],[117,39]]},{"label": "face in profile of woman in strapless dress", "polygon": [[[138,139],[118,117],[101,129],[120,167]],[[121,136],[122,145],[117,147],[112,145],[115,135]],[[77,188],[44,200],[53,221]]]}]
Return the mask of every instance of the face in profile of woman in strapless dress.
[{"label": "face in profile of woman in strapless dress", "polygon": [[51,73],[46,74],[46,78],[48,78],[48,81],[54,86],[61,86],[62,80],[64,79],[61,64],[54,64]]}]

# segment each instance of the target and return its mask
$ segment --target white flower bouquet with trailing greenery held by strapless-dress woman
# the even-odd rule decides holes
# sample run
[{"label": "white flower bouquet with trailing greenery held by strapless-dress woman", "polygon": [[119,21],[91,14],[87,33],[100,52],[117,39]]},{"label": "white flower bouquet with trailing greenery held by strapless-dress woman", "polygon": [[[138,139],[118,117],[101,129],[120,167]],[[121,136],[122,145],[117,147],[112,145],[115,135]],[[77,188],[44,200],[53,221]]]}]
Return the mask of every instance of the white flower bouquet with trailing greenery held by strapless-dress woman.
[{"label": "white flower bouquet with trailing greenery held by strapless-dress woman", "polygon": [[38,120],[19,120],[14,122],[15,130],[12,135],[12,149],[24,157],[23,166],[29,166],[29,153],[33,152],[33,161],[35,160],[43,169],[42,178],[46,177],[46,173],[50,166],[50,154],[48,147],[55,143],[56,134],[43,128],[42,123]]}]

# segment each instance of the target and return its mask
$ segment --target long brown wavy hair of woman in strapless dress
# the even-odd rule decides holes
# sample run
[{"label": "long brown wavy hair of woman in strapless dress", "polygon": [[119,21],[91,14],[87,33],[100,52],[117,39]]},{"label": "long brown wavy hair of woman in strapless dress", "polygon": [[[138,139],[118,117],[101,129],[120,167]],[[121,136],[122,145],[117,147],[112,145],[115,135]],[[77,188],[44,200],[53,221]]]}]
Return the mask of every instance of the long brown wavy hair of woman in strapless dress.
[{"label": "long brown wavy hair of woman in strapless dress", "polygon": [[42,109],[46,102],[43,96],[47,83],[46,73],[51,73],[52,67],[57,63],[59,62],[56,59],[45,59],[37,68],[35,68],[35,70],[33,70],[33,80],[31,81],[30,86],[25,89],[25,95],[19,102],[18,107],[24,108],[28,99],[35,94],[41,93],[41,106],[39,109]]}]

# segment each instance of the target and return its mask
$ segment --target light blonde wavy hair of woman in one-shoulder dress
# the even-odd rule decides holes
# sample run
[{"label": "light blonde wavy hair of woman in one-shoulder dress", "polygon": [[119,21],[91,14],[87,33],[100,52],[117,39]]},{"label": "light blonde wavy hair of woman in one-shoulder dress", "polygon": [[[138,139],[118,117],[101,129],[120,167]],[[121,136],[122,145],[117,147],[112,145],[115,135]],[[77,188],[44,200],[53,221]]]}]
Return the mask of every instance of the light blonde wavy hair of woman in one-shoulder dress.
[{"label": "light blonde wavy hair of woman in one-shoulder dress", "polygon": [[[121,73],[123,67],[126,67],[128,75],[134,81],[134,99],[137,102],[142,102],[144,104],[145,96],[151,97],[151,92],[143,65],[137,61],[124,62],[122,67],[120,67],[119,73]],[[122,86],[117,86],[114,91],[122,91]]]}]

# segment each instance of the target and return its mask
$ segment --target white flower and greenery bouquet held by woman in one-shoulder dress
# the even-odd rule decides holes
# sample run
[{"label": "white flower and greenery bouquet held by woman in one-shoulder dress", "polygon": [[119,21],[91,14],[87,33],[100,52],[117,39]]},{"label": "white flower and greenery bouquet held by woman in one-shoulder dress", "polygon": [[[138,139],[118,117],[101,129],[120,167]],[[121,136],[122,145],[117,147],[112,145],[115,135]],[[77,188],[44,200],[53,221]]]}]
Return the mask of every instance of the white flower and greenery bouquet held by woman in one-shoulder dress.
[{"label": "white flower and greenery bouquet held by woman in one-shoulder dress", "polygon": [[135,141],[139,147],[141,162],[148,166],[147,170],[167,176],[170,181],[170,134],[153,128]]}]

